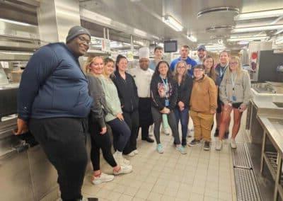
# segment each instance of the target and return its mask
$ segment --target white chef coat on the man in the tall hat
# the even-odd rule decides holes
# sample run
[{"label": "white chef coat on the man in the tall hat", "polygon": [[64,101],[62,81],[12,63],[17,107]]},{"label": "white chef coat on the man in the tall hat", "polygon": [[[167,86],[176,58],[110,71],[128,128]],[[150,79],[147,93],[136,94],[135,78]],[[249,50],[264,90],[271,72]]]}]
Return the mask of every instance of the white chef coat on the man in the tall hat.
[{"label": "white chef coat on the man in the tall hat", "polygon": [[140,67],[136,67],[134,69],[129,69],[129,74],[134,77],[139,98],[149,98],[151,77],[154,74],[154,71],[151,69],[144,71]]}]

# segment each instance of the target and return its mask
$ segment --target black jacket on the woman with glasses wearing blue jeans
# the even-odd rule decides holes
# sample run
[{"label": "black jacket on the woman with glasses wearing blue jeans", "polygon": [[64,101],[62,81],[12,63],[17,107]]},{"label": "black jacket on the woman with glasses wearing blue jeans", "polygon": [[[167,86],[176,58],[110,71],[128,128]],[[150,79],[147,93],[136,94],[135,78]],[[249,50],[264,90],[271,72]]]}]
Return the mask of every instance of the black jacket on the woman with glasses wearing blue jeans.
[{"label": "black jacket on the woman with glasses wearing blue jeans", "polygon": [[[178,86],[178,97],[177,104],[179,101],[182,101],[185,104],[185,108],[189,108],[190,106],[190,93],[192,91],[192,77],[186,74],[185,80],[181,82],[181,84],[177,84]],[[176,105],[178,107],[178,105]]]}]

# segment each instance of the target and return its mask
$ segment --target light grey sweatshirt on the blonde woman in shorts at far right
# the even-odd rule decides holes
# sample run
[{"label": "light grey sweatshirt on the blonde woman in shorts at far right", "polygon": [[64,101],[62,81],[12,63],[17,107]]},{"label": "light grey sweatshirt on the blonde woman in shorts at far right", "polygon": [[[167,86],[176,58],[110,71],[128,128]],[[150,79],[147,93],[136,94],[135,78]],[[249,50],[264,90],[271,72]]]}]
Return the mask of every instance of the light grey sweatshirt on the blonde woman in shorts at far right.
[{"label": "light grey sweatshirt on the blonde woman in shorts at far right", "polygon": [[[235,80],[234,86],[232,79]],[[244,103],[248,105],[250,98],[252,98],[248,71],[242,69],[240,77],[238,77],[236,72],[233,72],[232,75],[231,71],[227,69],[219,87],[219,96],[224,104]],[[233,96],[236,96],[236,100],[233,99]]]}]

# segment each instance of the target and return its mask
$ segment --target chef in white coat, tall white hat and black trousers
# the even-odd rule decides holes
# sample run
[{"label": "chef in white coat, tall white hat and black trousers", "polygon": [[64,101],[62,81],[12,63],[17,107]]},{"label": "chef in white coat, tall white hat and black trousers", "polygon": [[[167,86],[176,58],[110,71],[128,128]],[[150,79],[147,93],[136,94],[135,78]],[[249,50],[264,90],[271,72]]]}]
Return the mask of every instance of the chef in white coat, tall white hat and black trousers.
[{"label": "chef in white coat, tall white hat and black trousers", "polygon": [[141,127],[141,139],[152,143],[154,142],[154,139],[149,137],[149,126],[154,122],[151,115],[150,83],[154,71],[149,69],[148,47],[141,47],[139,49],[139,67],[130,69],[129,74],[134,77],[134,81],[137,85],[137,94],[139,96],[139,127]]}]

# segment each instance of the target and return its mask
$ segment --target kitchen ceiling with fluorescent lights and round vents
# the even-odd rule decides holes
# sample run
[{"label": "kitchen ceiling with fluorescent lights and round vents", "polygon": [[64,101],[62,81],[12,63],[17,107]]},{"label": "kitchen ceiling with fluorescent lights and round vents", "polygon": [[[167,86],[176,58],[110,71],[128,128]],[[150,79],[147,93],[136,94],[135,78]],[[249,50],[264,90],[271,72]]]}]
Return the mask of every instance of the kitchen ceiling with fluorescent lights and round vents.
[{"label": "kitchen ceiling with fluorescent lights and round vents", "polygon": [[[238,8],[240,13],[283,8],[282,0],[80,0],[80,6],[112,21],[157,36],[161,41],[177,39],[179,45],[187,44],[191,47],[196,47],[200,43],[223,41],[226,47],[232,49],[239,49],[241,46],[226,41],[231,35],[231,28],[256,24],[269,25],[277,18],[234,21],[233,17],[237,14],[235,11],[216,11],[206,13],[199,18],[197,13],[218,7]],[[166,15],[173,16],[184,29],[177,32],[163,23],[162,16]],[[275,24],[283,24],[282,19]],[[122,32],[128,37],[127,30]],[[274,31],[267,30],[265,33],[271,35]],[[187,34],[195,36],[197,42],[188,40]]]}]

